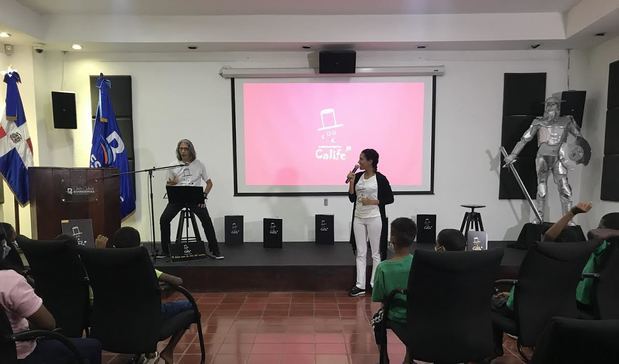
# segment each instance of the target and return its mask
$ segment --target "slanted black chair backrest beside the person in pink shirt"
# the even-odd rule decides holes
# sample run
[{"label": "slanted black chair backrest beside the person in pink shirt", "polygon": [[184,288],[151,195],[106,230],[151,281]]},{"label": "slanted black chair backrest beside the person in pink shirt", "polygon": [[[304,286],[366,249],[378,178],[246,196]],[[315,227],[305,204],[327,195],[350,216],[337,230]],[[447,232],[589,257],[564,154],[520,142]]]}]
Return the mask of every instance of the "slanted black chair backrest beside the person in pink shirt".
[{"label": "slanted black chair backrest beside the person in pink shirt", "polygon": [[89,286],[74,243],[19,237],[18,244],[30,265],[35,292],[62,334],[81,337],[88,327]]}]

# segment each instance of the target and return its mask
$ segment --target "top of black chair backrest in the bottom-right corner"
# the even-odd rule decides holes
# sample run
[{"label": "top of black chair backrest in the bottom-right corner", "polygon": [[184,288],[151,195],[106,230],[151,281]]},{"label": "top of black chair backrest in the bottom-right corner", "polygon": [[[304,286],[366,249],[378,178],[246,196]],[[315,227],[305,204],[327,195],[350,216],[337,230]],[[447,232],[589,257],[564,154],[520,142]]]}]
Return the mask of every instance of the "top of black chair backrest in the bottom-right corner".
[{"label": "top of black chair backrest in the bottom-right corner", "polygon": [[542,333],[533,364],[619,363],[619,320],[553,317]]}]

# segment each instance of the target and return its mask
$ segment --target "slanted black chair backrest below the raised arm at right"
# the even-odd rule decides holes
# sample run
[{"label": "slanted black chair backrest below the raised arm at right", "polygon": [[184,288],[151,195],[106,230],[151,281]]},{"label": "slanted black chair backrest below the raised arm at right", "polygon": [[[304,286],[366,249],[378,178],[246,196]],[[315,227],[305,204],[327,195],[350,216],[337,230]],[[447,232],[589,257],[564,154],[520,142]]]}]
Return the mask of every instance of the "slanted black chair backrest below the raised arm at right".
[{"label": "slanted black chair backrest below the raised arm at right", "polygon": [[576,285],[596,244],[534,243],[520,266],[514,311],[518,342],[533,346],[553,316],[576,317]]}]

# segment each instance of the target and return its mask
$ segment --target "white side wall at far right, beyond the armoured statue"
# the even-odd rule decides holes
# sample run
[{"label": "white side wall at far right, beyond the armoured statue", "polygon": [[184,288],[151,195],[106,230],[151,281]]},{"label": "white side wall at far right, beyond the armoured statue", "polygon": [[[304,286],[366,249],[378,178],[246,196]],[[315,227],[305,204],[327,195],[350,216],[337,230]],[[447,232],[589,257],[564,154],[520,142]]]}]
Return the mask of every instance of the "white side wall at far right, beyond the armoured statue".
[{"label": "white side wall at far right, beyond the armoured statue", "polygon": [[[585,107],[586,122],[583,134],[592,147],[591,162],[583,173],[580,188],[581,199],[590,200],[594,209],[588,214],[589,226],[597,226],[600,217],[608,212],[619,211],[619,202],[600,200],[602,160],[606,130],[606,108],[608,97],[608,65],[619,60],[619,37],[586,51],[577,52],[576,67],[572,75],[578,87],[587,90]],[[619,188],[619,186],[616,186]]]}]

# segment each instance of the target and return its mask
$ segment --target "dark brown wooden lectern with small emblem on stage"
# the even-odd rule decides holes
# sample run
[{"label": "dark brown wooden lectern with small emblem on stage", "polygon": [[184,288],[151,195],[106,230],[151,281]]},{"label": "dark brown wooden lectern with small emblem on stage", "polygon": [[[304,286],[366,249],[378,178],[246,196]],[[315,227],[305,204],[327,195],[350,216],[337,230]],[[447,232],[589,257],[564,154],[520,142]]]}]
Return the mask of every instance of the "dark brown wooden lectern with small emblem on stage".
[{"label": "dark brown wooden lectern with small emblem on stage", "polygon": [[113,168],[30,167],[33,239],[62,233],[61,220],[91,219],[94,236],[120,228],[120,177]]}]

